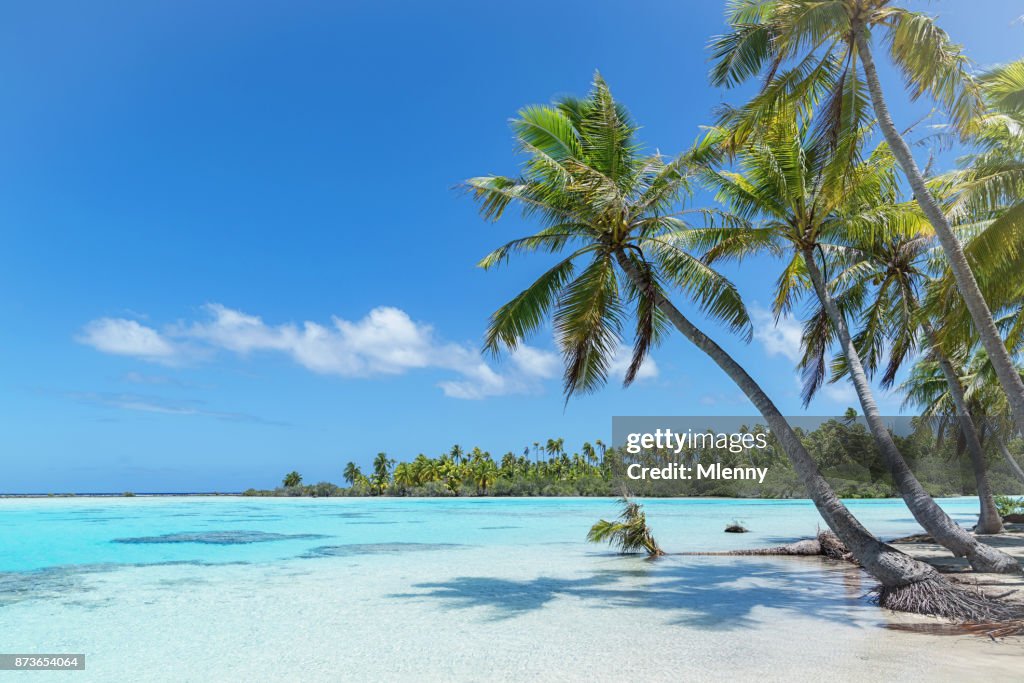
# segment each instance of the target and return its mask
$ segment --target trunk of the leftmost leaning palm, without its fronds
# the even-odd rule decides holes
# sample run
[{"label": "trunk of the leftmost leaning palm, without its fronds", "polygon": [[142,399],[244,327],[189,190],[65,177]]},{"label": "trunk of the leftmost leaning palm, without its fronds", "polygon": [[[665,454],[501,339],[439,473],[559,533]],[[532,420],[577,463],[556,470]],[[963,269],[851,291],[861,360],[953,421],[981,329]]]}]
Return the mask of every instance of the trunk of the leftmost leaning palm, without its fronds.
[{"label": "trunk of the leftmost leaning palm, without its fronds", "polygon": [[[616,256],[620,266],[633,284],[644,291],[645,281],[636,265],[622,253]],[[818,513],[864,569],[883,587],[893,591],[927,582],[945,581],[931,565],[882,543],[864,528],[821,476],[817,464],[807,453],[800,437],[754,378],[725,349],[690,323],[671,301],[656,292],[651,293],[651,296],[654,297],[658,309],[673,326],[694,346],[708,354],[758,409],[772,433],[779,439]]]}]

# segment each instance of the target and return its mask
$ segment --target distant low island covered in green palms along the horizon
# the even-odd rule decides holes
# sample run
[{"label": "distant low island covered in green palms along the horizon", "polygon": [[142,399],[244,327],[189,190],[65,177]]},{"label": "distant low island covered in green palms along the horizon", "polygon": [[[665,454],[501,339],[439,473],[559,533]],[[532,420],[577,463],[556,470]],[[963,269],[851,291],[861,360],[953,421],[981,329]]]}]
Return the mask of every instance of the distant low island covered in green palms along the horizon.
[{"label": "distant low island covered in green palms along the horizon", "polygon": [[[757,425],[752,433],[767,433]],[[882,464],[876,441],[867,428],[853,419],[833,419],[800,436],[818,467],[837,492],[848,499],[893,498],[899,496],[892,477]],[[975,477],[963,443],[936,437],[927,428],[906,436],[894,435],[901,453],[928,492],[935,497],[977,495]],[[297,471],[289,472],[273,489],[249,488],[243,496],[343,497],[483,497],[483,496],[617,496],[624,486],[643,497],[719,498],[805,498],[806,489],[788,458],[768,434],[767,449],[731,453],[728,449],[693,450],[679,456],[657,451],[628,455],[623,449],[600,439],[583,443],[569,453],[564,439],[535,441],[519,453],[508,452],[496,459],[474,447],[456,444],[436,458],[420,454],[409,461],[396,461],[387,454],[374,458],[372,469],[364,472],[349,462],[342,471],[347,485],[330,481],[304,483]],[[1021,444],[1016,444],[1021,445]],[[996,449],[990,455],[992,488],[997,493],[1024,494]],[[1019,449],[1018,449],[1019,450]],[[670,462],[715,462],[722,467],[756,467],[767,470],[758,479],[635,480],[625,476],[634,463],[664,466]]]}]

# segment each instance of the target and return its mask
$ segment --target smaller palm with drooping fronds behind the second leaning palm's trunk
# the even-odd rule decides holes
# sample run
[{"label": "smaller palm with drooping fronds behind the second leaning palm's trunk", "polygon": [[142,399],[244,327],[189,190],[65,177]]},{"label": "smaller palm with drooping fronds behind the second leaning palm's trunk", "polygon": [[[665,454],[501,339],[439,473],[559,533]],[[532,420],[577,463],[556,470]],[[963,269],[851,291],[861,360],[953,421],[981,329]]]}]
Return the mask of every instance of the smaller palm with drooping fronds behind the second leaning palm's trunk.
[{"label": "smaller palm with drooping fronds behind the second leaning palm's trunk", "polygon": [[[849,240],[854,236],[846,236]],[[842,300],[841,308],[860,321],[860,330],[853,337],[868,377],[879,370],[888,356],[881,385],[892,387],[897,372],[918,348],[929,355],[928,367],[938,374],[938,382],[948,398],[942,402],[943,415],[955,421],[974,471],[978,490],[979,516],[975,531],[999,533],[1002,520],[988,481],[988,466],[982,439],[975,425],[974,411],[968,404],[965,387],[950,354],[942,347],[938,335],[921,303],[921,291],[930,282],[930,256],[934,256],[930,234],[872,234],[866,241],[852,241],[859,257],[842,270],[829,285],[842,290],[834,295]],[[802,366],[809,370],[805,396],[810,398],[824,379],[825,354],[834,337],[827,312],[819,306],[807,326],[810,335]],[[842,355],[834,359],[829,382],[846,378],[849,366]],[[931,385],[930,385],[931,386]],[[904,388],[906,386],[904,385]],[[922,403],[932,410],[934,400]]]}]

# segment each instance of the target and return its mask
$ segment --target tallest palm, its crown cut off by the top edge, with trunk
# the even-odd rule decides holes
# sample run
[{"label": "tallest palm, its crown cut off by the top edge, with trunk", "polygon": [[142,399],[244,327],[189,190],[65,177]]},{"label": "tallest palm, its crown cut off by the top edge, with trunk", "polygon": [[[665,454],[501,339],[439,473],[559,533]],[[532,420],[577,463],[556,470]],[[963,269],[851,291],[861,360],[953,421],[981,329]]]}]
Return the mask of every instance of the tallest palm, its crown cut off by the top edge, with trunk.
[{"label": "tallest palm, its crown cut off by the top edge, with trunk", "polygon": [[893,122],[871,39],[874,31],[883,35],[912,98],[933,97],[953,125],[968,132],[984,102],[961,47],[933,17],[891,0],[733,0],[727,22],[730,32],[712,42],[712,82],[731,86],[765,75],[761,92],[733,117],[740,130],[774,114],[785,100],[797,100],[805,110],[820,105],[823,130],[834,141],[842,140],[842,131],[863,117],[866,84],[882,133],[946,254],[1017,428],[1024,431],[1024,382],[1014,370],[959,240]]}]

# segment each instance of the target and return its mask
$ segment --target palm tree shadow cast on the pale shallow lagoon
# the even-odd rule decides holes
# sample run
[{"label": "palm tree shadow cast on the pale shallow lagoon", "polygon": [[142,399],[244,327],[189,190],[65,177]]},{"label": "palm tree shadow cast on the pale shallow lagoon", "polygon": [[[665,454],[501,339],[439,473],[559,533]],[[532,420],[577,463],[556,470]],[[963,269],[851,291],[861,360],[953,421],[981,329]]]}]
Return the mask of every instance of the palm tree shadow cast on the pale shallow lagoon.
[{"label": "palm tree shadow cast on the pale shallow lagoon", "polygon": [[758,607],[850,623],[851,608],[864,604],[869,583],[848,565],[819,558],[666,558],[600,569],[578,579],[511,580],[458,577],[414,585],[420,592],[393,595],[433,599],[446,609],[489,607],[492,621],[513,618],[557,599],[582,600],[594,609],[640,608],[664,612],[670,623],[730,631],[758,623]]}]

